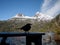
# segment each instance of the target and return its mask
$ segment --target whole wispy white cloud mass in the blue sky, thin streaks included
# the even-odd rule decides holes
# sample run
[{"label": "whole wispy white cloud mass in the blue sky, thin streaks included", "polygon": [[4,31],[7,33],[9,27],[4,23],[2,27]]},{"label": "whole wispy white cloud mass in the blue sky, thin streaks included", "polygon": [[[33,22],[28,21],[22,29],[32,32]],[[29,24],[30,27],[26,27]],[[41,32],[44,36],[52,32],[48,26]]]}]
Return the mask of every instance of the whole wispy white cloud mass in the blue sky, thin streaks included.
[{"label": "whole wispy white cloud mass in the blue sky, thin streaks included", "polygon": [[[41,12],[47,15],[55,16],[60,13],[60,0],[44,0]],[[53,5],[54,4],[54,5]],[[53,5],[53,6],[52,6]]]}]

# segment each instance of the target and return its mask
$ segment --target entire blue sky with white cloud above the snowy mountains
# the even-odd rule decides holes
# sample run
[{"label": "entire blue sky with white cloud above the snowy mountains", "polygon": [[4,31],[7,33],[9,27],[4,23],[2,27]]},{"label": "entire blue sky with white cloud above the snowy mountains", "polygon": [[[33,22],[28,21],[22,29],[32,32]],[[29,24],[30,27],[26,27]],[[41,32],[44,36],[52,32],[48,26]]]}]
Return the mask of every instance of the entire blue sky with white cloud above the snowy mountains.
[{"label": "entire blue sky with white cloud above the snowy mountains", "polygon": [[36,12],[49,16],[60,13],[60,0],[0,0],[0,20],[6,20],[17,13],[34,16]]}]

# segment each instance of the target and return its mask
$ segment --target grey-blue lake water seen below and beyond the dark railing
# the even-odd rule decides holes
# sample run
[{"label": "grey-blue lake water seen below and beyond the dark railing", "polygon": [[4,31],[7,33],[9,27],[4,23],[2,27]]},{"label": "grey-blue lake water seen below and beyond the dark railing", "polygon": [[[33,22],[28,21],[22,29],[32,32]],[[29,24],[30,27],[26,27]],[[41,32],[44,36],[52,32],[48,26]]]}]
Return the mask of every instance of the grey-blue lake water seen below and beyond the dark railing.
[{"label": "grey-blue lake water seen below and beyond the dark railing", "polygon": [[[2,38],[0,38],[1,41]],[[7,38],[7,43],[9,43],[10,45],[26,45],[26,37],[9,37]],[[32,45],[34,45],[34,43],[32,42]],[[52,40],[50,43],[49,42],[45,42],[42,40],[42,45],[56,45],[56,42],[54,40]]]}]

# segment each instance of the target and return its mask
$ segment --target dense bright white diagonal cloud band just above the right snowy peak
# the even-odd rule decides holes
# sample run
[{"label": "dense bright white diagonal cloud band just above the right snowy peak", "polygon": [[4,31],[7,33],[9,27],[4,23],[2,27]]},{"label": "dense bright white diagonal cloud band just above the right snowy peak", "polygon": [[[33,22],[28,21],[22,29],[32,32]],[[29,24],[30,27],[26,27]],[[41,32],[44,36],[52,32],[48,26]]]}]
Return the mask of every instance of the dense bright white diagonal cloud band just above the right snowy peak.
[{"label": "dense bright white diagonal cloud band just above the right snowy peak", "polygon": [[56,4],[46,12],[46,14],[51,15],[51,16],[55,16],[59,13],[60,13],[60,2],[59,1],[56,2]]}]

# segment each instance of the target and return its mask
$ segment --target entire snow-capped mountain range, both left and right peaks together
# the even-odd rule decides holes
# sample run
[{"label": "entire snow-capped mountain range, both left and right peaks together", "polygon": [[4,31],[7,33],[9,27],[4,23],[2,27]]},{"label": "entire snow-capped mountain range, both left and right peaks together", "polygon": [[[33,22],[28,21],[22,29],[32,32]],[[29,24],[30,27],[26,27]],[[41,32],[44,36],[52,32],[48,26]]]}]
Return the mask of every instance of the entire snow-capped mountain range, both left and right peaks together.
[{"label": "entire snow-capped mountain range, both left and right peaks together", "polygon": [[35,16],[24,16],[23,14],[17,14],[16,16],[13,16],[10,20],[27,20],[27,19],[34,19],[34,20],[51,20],[53,17],[49,15],[42,14],[40,12],[36,12]]}]

